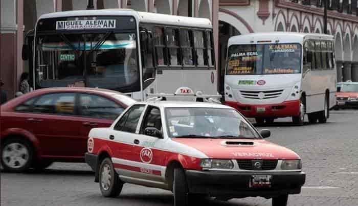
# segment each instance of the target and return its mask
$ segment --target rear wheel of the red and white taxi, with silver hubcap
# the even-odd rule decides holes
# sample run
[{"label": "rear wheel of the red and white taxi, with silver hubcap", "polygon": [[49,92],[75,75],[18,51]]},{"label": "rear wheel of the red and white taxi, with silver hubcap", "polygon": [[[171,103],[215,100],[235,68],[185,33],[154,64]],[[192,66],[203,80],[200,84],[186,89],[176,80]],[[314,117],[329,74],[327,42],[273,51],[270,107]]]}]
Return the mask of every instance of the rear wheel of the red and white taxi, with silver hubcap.
[{"label": "rear wheel of the red and white taxi, with silver hubcap", "polygon": [[99,187],[105,197],[118,197],[123,188],[123,182],[115,171],[112,161],[103,159],[99,171]]}]

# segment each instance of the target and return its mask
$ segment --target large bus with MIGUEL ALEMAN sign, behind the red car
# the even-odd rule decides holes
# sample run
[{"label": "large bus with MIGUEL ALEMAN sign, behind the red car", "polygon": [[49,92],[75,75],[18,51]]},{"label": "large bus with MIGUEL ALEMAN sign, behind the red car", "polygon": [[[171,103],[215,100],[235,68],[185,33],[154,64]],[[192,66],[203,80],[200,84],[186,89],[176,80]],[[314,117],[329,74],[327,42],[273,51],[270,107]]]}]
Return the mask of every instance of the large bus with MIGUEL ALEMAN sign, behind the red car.
[{"label": "large bus with MIGUEL ALEMAN sign, behind the red car", "polygon": [[219,97],[206,18],[131,9],[43,14],[26,35],[23,59],[33,89],[98,87],[142,101],[155,94]]}]

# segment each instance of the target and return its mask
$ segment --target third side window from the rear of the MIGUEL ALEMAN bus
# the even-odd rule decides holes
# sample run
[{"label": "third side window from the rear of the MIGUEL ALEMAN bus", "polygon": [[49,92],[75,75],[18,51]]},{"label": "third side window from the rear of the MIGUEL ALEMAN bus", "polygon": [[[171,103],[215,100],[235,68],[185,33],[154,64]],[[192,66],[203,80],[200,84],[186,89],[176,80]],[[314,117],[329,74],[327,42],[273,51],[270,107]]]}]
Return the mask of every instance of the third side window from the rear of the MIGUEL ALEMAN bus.
[{"label": "third side window from the rear of the MIGUEL ALEMAN bus", "polygon": [[183,65],[192,66],[194,65],[193,55],[193,34],[191,30],[183,29],[180,32],[180,42],[183,54]]}]

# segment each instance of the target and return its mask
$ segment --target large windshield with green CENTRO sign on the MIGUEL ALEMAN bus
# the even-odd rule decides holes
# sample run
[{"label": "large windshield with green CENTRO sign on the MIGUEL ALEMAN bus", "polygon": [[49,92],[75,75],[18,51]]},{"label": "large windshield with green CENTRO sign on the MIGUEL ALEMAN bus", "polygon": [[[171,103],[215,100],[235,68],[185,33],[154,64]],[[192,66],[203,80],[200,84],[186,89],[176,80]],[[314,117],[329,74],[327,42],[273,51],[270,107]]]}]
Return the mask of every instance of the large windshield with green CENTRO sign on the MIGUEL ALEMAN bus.
[{"label": "large windshield with green CENTRO sign on the MIGUEL ALEMAN bus", "polygon": [[36,40],[39,87],[121,90],[139,80],[135,33],[56,33]]}]

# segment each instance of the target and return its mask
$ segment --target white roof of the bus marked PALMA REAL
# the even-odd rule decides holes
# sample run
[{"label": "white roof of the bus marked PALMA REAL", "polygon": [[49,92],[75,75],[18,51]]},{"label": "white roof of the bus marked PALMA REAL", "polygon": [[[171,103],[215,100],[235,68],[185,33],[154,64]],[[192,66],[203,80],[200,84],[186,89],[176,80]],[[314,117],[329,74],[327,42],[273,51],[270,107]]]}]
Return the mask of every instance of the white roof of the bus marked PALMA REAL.
[{"label": "white roof of the bus marked PALMA REAL", "polygon": [[305,39],[333,40],[333,36],[327,34],[297,32],[251,33],[230,37],[228,45],[230,46],[232,44],[276,43],[276,40],[278,40],[279,43],[302,43]]}]

